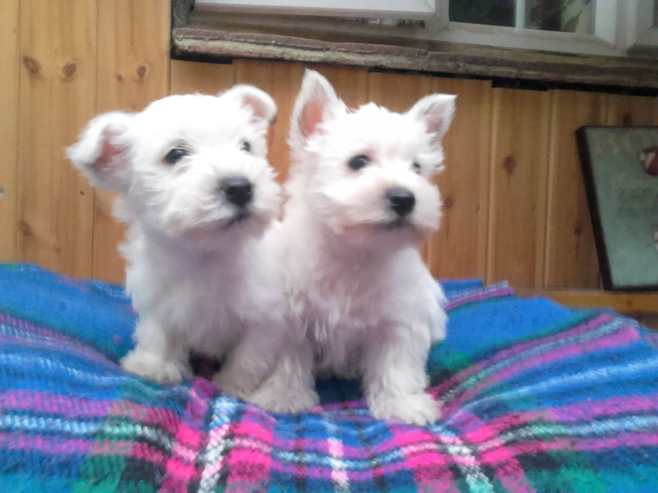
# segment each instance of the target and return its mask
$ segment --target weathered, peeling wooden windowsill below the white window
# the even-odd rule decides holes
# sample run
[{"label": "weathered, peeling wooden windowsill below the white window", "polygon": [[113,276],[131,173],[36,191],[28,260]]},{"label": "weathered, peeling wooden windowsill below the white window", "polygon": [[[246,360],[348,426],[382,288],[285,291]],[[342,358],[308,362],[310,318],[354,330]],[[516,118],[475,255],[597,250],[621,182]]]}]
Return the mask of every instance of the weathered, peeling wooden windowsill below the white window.
[{"label": "weathered, peeling wooden windowsill below the white window", "polygon": [[172,56],[218,62],[264,59],[340,64],[658,94],[655,58],[548,53],[304,28],[282,33],[272,26],[210,22],[198,14],[185,26],[174,27]]}]

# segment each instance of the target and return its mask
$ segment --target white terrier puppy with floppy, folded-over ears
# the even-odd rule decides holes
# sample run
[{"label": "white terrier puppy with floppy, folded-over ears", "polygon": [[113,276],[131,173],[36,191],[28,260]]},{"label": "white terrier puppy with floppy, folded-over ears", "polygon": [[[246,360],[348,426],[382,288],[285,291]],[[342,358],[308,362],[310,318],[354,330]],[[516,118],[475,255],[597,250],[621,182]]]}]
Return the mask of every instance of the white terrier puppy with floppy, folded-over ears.
[{"label": "white terrier puppy with floppy, folded-over ears", "polygon": [[225,358],[215,383],[245,397],[274,367],[288,325],[282,197],[265,158],[275,113],[248,85],[169,96],[97,116],[68,149],[94,185],[120,192],[115,215],[129,225],[121,252],[139,321],[124,369],[176,383],[193,350]]}]

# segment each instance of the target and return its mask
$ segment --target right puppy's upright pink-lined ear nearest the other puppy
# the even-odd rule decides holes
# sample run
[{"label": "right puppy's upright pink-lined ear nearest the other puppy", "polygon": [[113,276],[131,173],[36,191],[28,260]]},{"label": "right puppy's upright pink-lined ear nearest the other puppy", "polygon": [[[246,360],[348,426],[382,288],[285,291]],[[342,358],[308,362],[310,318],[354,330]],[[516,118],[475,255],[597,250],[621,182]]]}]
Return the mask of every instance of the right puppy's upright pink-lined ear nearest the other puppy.
[{"label": "right puppy's upright pink-lined ear nearest the other puppy", "polygon": [[318,72],[307,69],[292,112],[291,145],[298,149],[303,147],[318,133],[322,123],[341,111],[345,111],[345,103],[338,99],[334,87]]}]

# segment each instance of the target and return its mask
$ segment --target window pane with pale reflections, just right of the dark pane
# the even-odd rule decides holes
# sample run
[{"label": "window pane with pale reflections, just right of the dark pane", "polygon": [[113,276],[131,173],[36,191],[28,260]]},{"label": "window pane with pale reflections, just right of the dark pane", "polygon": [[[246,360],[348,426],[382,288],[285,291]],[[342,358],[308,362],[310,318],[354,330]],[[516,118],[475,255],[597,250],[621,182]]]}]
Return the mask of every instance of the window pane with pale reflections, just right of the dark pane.
[{"label": "window pane with pale reflections, just right of the dark pane", "polygon": [[594,0],[526,0],[525,27],[594,34]]}]

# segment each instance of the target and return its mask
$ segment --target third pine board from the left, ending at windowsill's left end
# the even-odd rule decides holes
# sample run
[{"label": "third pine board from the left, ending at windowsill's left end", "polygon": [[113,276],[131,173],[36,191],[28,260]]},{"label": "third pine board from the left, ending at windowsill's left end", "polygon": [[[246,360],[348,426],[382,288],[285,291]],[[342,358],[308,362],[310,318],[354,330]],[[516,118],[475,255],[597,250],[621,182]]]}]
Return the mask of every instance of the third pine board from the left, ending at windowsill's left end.
[{"label": "third pine board from the left, ending at windowsill's left end", "polygon": [[[97,113],[138,111],[168,93],[169,5],[161,0],[98,1]],[[124,280],[118,243],[124,225],[112,215],[115,194],[95,189],[94,277]]]}]

